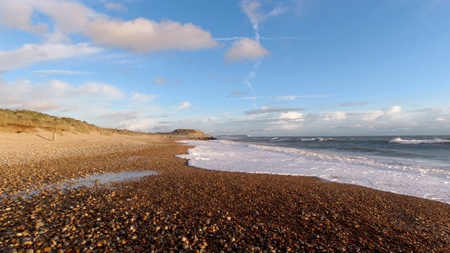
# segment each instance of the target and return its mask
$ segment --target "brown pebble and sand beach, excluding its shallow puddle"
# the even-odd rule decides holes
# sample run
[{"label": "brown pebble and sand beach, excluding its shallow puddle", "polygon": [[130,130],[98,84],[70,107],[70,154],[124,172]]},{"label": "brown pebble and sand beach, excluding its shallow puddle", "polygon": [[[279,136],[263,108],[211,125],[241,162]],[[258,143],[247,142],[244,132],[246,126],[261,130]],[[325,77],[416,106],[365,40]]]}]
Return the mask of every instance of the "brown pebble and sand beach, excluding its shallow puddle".
[{"label": "brown pebble and sand beach, excluding its shallow puddle", "polygon": [[160,136],[56,138],[0,133],[1,192],[106,172],[158,175],[0,197],[0,252],[450,252],[442,202],[312,177],[196,169],[174,157],[189,146]]}]

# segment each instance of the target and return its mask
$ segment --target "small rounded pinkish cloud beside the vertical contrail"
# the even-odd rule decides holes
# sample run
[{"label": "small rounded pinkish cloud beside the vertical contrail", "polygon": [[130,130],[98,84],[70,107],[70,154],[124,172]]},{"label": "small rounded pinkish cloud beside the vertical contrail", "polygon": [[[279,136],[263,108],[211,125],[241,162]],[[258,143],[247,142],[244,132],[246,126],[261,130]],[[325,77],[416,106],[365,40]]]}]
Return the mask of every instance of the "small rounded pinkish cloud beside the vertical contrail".
[{"label": "small rounded pinkish cloud beside the vertical contrail", "polygon": [[269,55],[269,51],[258,41],[244,38],[234,42],[233,46],[226,52],[226,60],[256,60],[267,55]]}]

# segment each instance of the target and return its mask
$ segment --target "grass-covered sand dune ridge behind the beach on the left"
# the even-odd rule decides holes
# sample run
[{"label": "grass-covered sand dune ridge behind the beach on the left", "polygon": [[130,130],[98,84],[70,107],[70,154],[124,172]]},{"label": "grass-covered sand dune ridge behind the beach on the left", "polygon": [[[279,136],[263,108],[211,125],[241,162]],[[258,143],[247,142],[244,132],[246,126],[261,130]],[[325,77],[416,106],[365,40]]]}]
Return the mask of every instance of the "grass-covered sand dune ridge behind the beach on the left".
[{"label": "grass-covered sand dune ridge behind the beach on the left", "polygon": [[71,133],[96,132],[99,134],[147,134],[125,129],[106,129],[81,120],[69,117],[55,117],[30,110],[0,109],[0,131],[21,133],[38,131],[40,129],[56,131],[58,133],[68,131]]}]

